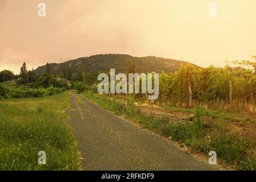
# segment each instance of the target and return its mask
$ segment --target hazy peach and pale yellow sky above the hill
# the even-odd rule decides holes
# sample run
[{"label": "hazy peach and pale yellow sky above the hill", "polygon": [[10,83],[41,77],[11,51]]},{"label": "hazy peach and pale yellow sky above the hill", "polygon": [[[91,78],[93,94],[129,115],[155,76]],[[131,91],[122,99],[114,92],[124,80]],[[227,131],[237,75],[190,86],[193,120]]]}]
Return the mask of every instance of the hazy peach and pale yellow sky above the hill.
[{"label": "hazy peach and pale yellow sky above the hill", "polygon": [[[38,4],[46,16],[38,16]],[[217,16],[209,16],[210,3]],[[0,0],[0,71],[100,53],[219,67],[256,55],[255,0]],[[212,11],[211,11],[212,12]]]}]

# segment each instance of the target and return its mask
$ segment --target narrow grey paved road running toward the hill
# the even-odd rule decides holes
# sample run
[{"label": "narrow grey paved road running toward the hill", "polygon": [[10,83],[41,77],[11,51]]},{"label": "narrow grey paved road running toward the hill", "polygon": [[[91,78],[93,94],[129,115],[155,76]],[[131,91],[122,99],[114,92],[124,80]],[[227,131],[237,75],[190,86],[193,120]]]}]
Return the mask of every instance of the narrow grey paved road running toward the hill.
[{"label": "narrow grey paved road running toward the hill", "polygon": [[84,170],[213,170],[167,140],[71,96],[71,125]]}]

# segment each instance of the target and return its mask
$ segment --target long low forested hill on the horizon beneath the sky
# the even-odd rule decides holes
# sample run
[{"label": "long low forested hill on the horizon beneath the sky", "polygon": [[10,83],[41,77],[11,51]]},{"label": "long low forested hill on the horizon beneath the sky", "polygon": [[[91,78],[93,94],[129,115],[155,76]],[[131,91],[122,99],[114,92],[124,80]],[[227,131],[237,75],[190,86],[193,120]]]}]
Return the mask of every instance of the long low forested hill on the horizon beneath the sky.
[{"label": "long low forested hill on the horizon beneath the sky", "polygon": [[[135,72],[137,73],[149,73],[152,71],[157,73],[161,71],[170,73],[177,71],[181,63],[187,63],[185,61],[164,59],[155,56],[134,57],[121,54],[107,54],[80,57],[79,59],[69,60],[59,64],[51,63],[50,65],[51,73],[56,75],[63,73],[64,65],[71,66],[73,73],[78,72],[80,68],[82,68],[85,73],[98,71],[109,72],[110,68],[115,68],[115,71],[119,73],[126,73],[129,68],[129,61],[135,65]],[[36,68],[34,72],[43,75],[46,73],[46,65]]]}]

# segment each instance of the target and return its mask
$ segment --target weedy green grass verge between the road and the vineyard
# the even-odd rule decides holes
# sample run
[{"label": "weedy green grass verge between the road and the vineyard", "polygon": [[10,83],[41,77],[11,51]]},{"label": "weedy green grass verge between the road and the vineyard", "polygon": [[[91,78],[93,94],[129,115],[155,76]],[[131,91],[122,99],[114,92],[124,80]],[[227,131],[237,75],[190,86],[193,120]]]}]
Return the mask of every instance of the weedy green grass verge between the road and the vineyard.
[{"label": "weedy green grass verge between the road and the vineyard", "polygon": [[[108,96],[90,92],[84,93],[84,96],[96,102],[106,110],[113,111],[117,115],[123,115],[155,133],[172,137],[179,142],[185,143],[186,146],[191,146],[206,154],[212,150],[216,151],[217,156],[221,157],[225,163],[234,164],[239,170],[256,169],[256,158],[251,156],[248,152],[253,148],[253,141],[237,138],[232,134],[225,133],[225,122],[216,124],[203,121],[201,116],[207,113],[199,107],[196,107],[194,110],[186,110],[194,113],[195,117],[193,122],[170,122],[169,119],[164,116],[155,118],[152,114],[142,114],[141,111],[134,106],[133,97],[128,97],[126,104],[124,104],[113,97],[109,98]],[[213,114],[216,115],[216,117],[218,116],[217,113]]]}]

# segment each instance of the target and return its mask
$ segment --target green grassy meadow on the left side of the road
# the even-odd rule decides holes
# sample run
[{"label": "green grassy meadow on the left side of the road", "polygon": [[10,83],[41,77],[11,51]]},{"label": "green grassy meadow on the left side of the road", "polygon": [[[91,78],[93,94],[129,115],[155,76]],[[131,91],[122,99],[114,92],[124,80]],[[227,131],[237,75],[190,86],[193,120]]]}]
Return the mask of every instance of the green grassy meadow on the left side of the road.
[{"label": "green grassy meadow on the left side of the road", "polygon": [[[76,170],[77,144],[68,124],[69,92],[0,100],[0,170]],[[38,152],[46,152],[46,165]]]}]

